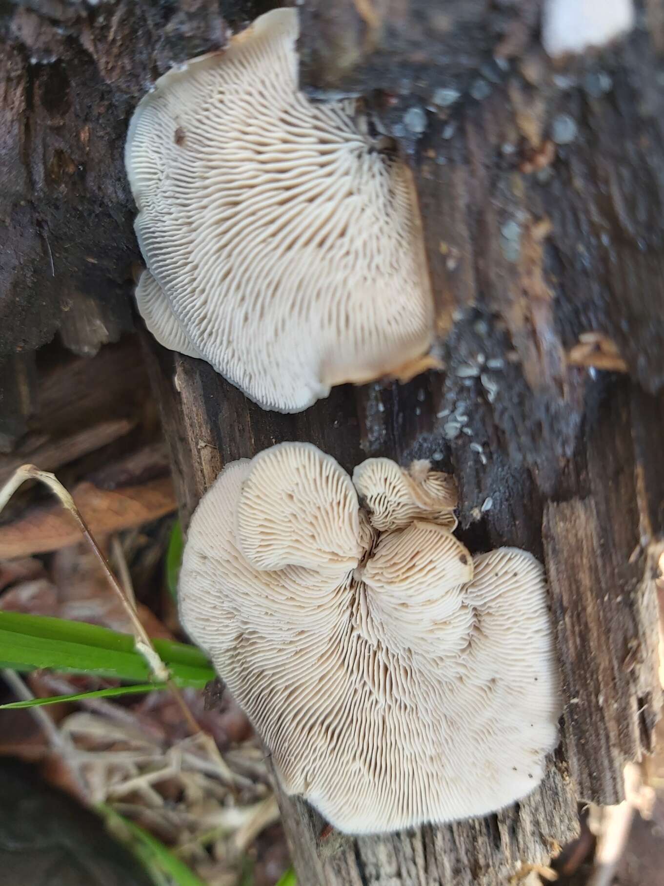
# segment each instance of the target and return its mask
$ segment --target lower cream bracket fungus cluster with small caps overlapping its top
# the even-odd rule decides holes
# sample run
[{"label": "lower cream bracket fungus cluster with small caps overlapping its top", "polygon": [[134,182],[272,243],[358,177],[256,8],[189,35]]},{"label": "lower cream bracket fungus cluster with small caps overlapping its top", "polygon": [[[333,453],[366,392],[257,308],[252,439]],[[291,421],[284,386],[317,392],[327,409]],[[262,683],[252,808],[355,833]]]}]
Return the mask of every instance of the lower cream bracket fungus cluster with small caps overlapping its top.
[{"label": "lower cream bracket fungus cluster with small caps overlapping its top", "polygon": [[516,548],[471,556],[451,478],[423,462],[371,459],[354,478],[372,509],[310,444],[229,464],[189,527],[182,622],[283,788],[336,828],[496,811],[557,741],[544,570]]}]

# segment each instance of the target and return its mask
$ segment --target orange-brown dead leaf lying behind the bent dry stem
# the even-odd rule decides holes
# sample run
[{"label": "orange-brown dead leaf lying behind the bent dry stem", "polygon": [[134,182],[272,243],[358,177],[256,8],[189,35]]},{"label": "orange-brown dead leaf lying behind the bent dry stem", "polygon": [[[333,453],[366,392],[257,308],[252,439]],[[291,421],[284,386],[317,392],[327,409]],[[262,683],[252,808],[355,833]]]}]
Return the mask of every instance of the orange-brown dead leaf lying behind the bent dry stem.
[{"label": "orange-brown dead leaf lying behind the bent dry stem", "polygon": [[[73,489],[73,501],[95,536],[104,536],[172,513],[176,508],[171,478],[140,486],[99,489],[83,482]],[[31,508],[24,517],[0,526],[0,557],[29,556],[73,545],[81,532],[57,503]]]}]

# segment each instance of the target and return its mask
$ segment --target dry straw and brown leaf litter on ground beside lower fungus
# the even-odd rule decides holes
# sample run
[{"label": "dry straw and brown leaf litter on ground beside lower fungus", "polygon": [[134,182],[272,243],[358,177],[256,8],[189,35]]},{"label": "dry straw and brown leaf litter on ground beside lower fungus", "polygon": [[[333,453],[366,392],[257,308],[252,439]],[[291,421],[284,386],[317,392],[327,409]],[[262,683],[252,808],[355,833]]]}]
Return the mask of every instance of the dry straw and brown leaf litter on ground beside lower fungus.
[{"label": "dry straw and brown leaf litter on ground beside lower fungus", "polygon": [[[159,605],[164,620],[155,614],[157,607],[140,602],[133,618],[127,611],[127,600],[132,600],[135,590],[127,587],[132,570],[123,563],[123,548],[135,547],[135,533],[129,532],[99,540],[104,556],[106,550],[113,555],[124,601],[112,593],[97,553],[76,545],[41,559],[0,563],[0,587],[4,587],[0,609],[133,632],[140,619],[141,633],[172,638],[164,623],[175,622],[173,585],[169,593],[163,581],[164,532],[158,539],[163,549],[152,559],[161,563]],[[150,546],[149,539],[146,544]],[[170,571],[172,582],[173,563]],[[139,588],[140,598],[143,590]],[[88,675],[37,671],[24,679],[10,673],[13,677],[5,681],[13,684],[14,697],[72,695],[114,685],[112,680]],[[289,867],[289,859],[266,752],[227,692],[215,699],[212,711],[205,710],[200,690],[179,690],[179,695],[180,701],[166,692],[117,700],[89,698],[29,711],[2,711],[0,716],[35,718],[41,733],[36,758],[52,781],[64,784],[86,804],[101,804],[143,828],[148,838],[152,835],[169,847],[202,882],[273,886]],[[190,734],[192,721],[201,731]],[[12,742],[7,730],[3,735],[0,753],[16,753],[20,743]],[[35,759],[35,742],[27,746],[27,757]]]}]

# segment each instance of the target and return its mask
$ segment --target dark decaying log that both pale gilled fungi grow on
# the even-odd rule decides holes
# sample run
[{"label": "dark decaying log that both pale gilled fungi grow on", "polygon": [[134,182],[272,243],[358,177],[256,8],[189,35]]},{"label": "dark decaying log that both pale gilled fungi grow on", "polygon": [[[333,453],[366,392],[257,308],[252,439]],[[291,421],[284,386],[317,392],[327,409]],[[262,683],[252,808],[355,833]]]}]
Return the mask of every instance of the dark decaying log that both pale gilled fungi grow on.
[{"label": "dark decaying log that both pale gilled fungi grow on", "polygon": [[[622,799],[622,766],[651,750],[660,709],[664,4],[559,69],[538,45],[535,0],[486,6],[303,7],[305,88],[366,94],[413,167],[444,369],[336,388],[282,416],[144,338],[185,523],[225,463],[309,440],[349,470],[370,455],[433,459],[457,478],[471,549],[516,545],[546,566],[565,708],[543,784],[481,820],[359,839],[280,796],[306,886],[498,886],[546,863],[575,832],[577,800]],[[223,44],[223,12],[212,0],[3,8],[12,360],[17,344],[71,329],[72,310],[108,338],[131,323],[128,115],[156,74]],[[339,47],[352,49],[343,64]],[[82,293],[69,312],[63,291]]]}]

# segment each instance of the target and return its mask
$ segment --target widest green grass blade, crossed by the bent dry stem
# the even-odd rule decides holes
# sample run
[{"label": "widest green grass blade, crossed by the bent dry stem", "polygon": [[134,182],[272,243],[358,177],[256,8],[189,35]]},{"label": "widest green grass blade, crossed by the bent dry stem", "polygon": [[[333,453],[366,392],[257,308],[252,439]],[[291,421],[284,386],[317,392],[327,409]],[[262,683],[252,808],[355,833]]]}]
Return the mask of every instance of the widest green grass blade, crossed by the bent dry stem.
[{"label": "widest green grass blade, crossed by the bent dry stem", "polygon": [[[167,640],[155,640],[154,646],[178,686],[203,688],[214,679],[200,649]],[[50,668],[138,683],[151,680],[131,634],[19,612],[0,612],[0,665],[22,672]]]}]

